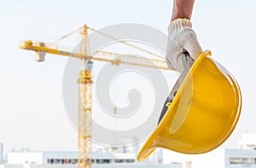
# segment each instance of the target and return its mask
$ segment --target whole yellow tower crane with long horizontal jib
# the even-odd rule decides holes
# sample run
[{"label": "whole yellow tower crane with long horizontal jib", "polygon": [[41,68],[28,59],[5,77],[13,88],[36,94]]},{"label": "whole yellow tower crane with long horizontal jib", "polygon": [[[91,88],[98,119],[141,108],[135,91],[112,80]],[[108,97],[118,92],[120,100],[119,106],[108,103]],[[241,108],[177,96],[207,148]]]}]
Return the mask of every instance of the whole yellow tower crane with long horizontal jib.
[{"label": "whole yellow tower crane with long horizontal jib", "polygon": [[[88,30],[101,33],[108,38],[114,38],[103,32],[96,31],[89,26],[84,25],[79,28],[82,41],[80,43],[80,51],[73,52],[73,49],[67,49],[58,46],[56,43],[43,43],[33,42],[27,40],[20,43],[20,49],[28,49],[36,52],[36,61],[44,61],[46,53],[53,55],[61,55],[67,57],[75,57],[81,60],[84,64],[83,69],[79,72],[78,84],[79,84],[79,168],[91,167],[91,154],[92,154],[92,84],[91,68],[92,61],[109,61],[113,65],[128,64],[140,67],[159,68],[163,70],[169,70],[166,67],[166,61],[164,59],[147,59],[135,55],[120,55],[118,53],[111,53],[108,51],[96,51],[94,55],[90,55]],[[70,35],[70,34],[68,34]],[[67,35],[67,36],[68,36]],[[64,36],[62,38],[67,38]],[[115,40],[118,40],[114,38]],[[124,41],[119,41],[125,43]],[[133,48],[140,49],[143,52],[147,52],[150,55],[160,57],[146,49],[139,48],[131,43],[125,43]],[[154,63],[154,64],[152,64]]]}]

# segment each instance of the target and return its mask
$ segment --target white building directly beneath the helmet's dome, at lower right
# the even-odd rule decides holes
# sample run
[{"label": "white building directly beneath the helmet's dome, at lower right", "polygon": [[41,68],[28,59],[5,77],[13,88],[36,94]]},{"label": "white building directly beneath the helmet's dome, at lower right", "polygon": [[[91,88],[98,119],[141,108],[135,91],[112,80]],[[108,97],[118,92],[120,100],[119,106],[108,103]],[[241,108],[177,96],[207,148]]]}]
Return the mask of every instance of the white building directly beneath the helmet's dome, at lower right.
[{"label": "white building directly beneath the helmet's dome, at lower right", "polygon": [[256,168],[256,150],[215,149],[207,154],[172,154],[172,161],[184,168]]}]

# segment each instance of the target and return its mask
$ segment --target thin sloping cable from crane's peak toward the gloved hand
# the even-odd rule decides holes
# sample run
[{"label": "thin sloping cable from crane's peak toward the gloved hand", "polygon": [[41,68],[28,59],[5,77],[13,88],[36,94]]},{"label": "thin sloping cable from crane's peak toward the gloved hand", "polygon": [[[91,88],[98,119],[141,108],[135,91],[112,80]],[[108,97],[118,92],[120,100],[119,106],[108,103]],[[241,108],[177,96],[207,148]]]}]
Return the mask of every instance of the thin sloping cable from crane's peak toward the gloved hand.
[{"label": "thin sloping cable from crane's peak toward the gloved hand", "polygon": [[141,51],[143,51],[143,52],[145,52],[145,53],[148,53],[149,55],[154,55],[154,56],[156,56],[156,57],[158,57],[158,58],[164,59],[164,57],[161,56],[161,55],[157,55],[157,54],[155,54],[155,53],[153,53],[153,52],[150,52],[150,51],[148,51],[148,50],[146,50],[146,49],[137,47],[136,45],[133,45],[133,44],[131,44],[131,43],[127,43],[127,42],[125,42],[124,40],[120,40],[120,39],[118,39],[118,38],[114,38],[113,36],[110,36],[110,35],[108,35],[108,34],[106,34],[106,33],[104,33],[104,32],[97,31],[97,30],[95,30],[94,28],[91,28],[91,27],[89,27],[89,26],[87,26],[87,27],[88,27],[88,29],[90,29],[91,31],[97,32],[97,33],[99,33],[99,34],[102,34],[103,36],[106,36],[106,37],[108,37],[108,38],[112,38],[113,40],[116,40],[116,41],[118,41],[119,43],[124,43],[125,45],[128,45],[128,46],[130,46],[130,47],[132,47],[132,48],[135,48],[135,49],[138,49],[138,50],[141,50]]}]

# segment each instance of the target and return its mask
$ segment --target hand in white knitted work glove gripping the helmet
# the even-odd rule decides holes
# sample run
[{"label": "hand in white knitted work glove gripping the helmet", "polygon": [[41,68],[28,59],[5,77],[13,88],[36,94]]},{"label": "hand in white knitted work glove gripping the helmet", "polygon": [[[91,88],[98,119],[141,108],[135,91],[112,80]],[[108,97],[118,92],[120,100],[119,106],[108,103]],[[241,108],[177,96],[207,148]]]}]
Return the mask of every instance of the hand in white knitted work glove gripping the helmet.
[{"label": "hand in white knitted work glove gripping the helmet", "polygon": [[188,52],[192,59],[201,54],[202,49],[192,29],[190,20],[173,20],[168,26],[168,42],[166,48],[167,66],[178,72],[183,72],[183,53]]}]

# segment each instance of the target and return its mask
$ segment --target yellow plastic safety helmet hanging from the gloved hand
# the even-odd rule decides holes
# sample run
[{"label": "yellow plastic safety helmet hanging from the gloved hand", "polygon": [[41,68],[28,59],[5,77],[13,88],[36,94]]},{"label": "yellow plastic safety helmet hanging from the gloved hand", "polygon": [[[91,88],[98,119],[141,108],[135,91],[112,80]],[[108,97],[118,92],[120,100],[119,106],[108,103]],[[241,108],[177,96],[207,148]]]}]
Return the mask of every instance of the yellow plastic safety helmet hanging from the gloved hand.
[{"label": "yellow plastic safety helmet hanging from the gloved hand", "polygon": [[201,53],[177,91],[171,92],[173,100],[167,98],[166,112],[137,154],[138,161],[148,158],[155,148],[207,153],[235,129],[241,113],[241,90],[230,72],[210,55],[210,51]]}]

